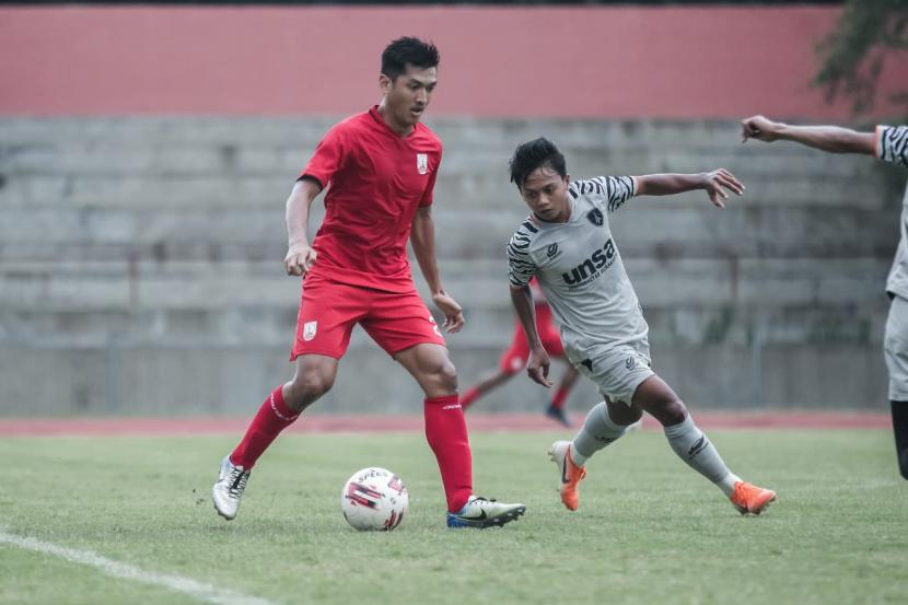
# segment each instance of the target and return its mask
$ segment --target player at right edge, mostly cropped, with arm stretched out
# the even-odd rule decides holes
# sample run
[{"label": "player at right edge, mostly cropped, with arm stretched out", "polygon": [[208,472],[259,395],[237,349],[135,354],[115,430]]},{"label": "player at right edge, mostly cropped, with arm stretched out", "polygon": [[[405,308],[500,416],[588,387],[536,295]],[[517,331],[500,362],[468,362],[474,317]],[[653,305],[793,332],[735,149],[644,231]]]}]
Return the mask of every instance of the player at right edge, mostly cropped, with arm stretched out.
[{"label": "player at right edge, mostly cropped, with arm stretched out", "polygon": [[[764,116],[741,123],[744,140],[794,141],[831,153],[865,153],[908,167],[908,126],[877,126],[874,132],[857,132],[838,126],[790,126]],[[908,188],[901,202],[900,238],[886,280],[892,299],[883,350],[889,370],[889,405],[893,410],[898,470],[908,479]]]}]

